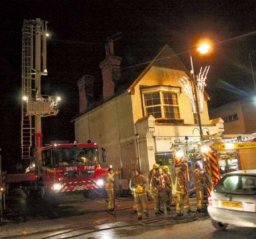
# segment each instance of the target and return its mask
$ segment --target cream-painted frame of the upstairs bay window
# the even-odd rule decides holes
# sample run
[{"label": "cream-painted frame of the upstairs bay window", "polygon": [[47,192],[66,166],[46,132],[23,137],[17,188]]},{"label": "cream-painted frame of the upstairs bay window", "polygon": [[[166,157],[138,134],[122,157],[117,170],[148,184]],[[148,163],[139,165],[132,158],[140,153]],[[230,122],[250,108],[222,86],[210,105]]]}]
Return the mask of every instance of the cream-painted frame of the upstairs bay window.
[{"label": "cream-painted frame of the upstairs bay window", "polygon": [[[160,106],[161,108],[161,115],[162,115],[162,118],[156,118],[156,119],[172,119],[172,120],[180,120],[180,109],[181,109],[181,106],[180,106],[180,92],[181,89],[180,87],[175,87],[175,86],[152,86],[152,87],[144,87],[143,89],[141,89],[141,94],[142,94],[142,103],[143,103],[143,115],[144,116],[147,116],[147,110],[146,108],[148,107],[158,107]],[[163,92],[167,92],[167,93],[175,93],[177,94],[177,105],[175,104],[164,104],[164,97],[163,97]],[[146,102],[145,102],[145,97],[144,95],[145,94],[148,94],[148,93],[159,93],[159,96],[160,96],[160,105],[159,104],[154,104],[152,106],[146,106]],[[179,107],[179,118],[166,118],[165,117],[165,114],[164,114],[164,106],[177,106]],[[154,115],[153,115],[154,116]]]}]

